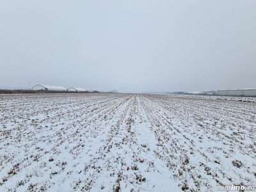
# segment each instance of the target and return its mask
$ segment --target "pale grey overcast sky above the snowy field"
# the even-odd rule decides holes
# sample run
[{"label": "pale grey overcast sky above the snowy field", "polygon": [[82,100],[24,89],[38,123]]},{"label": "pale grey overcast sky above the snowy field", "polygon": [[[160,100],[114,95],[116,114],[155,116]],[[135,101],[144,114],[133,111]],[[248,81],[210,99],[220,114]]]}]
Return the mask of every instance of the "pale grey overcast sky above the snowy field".
[{"label": "pale grey overcast sky above the snowy field", "polygon": [[256,1],[0,1],[0,86],[256,88]]}]

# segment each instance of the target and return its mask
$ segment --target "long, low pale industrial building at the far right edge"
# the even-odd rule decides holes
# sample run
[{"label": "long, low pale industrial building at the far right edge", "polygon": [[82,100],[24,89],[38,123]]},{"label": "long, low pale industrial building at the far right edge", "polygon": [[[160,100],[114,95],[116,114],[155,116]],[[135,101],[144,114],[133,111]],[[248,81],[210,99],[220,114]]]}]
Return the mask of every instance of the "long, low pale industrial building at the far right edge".
[{"label": "long, low pale industrial building at the far right edge", "polygon": [[256,89],[218,90],[217,95],[256,97]]}]

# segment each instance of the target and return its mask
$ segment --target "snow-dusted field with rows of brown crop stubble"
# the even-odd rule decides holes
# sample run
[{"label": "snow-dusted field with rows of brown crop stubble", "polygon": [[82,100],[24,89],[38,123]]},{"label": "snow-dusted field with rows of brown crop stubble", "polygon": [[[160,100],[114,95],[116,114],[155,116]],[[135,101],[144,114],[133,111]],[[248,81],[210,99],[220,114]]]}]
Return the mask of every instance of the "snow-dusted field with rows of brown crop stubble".
[{"label": "snow-dusted field with rows of brown crop stubble", "polygon": [[0,95],[0,192],[256,185],[256,103],[250,100]]}]

